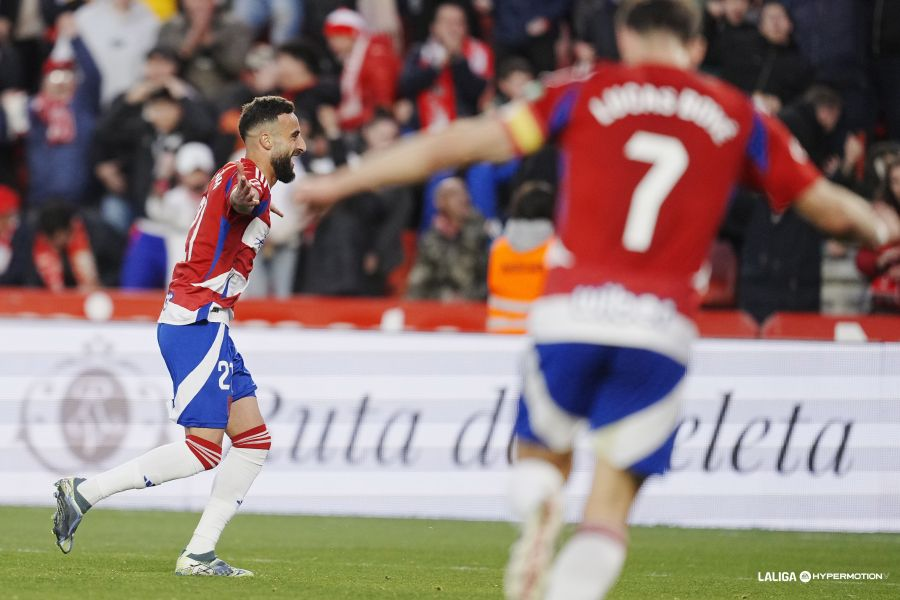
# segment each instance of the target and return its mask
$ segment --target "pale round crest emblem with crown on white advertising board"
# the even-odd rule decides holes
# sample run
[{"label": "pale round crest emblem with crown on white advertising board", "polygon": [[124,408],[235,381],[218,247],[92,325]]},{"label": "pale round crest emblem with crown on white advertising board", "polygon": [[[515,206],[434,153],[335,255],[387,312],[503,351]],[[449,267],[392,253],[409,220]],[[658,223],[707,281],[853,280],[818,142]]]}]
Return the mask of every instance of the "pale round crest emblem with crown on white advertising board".
[{"label": "pale round crest emblem with crown on white advertising board", "polygon": [[95,338],[28,388],[21,436],[52,471],[110,466],[165,441],[165,396],[152,377]]}]

